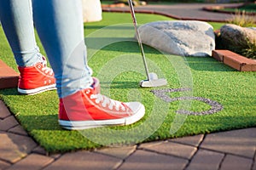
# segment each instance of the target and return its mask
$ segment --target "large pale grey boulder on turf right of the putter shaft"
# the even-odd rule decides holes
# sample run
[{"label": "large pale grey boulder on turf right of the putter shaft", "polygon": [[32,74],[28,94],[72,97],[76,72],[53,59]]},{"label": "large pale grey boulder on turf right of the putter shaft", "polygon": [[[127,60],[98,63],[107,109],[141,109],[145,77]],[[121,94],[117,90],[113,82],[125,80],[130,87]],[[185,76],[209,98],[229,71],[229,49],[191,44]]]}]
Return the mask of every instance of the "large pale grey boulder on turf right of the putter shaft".
[{"label": "large pale grey boulder on turf right of the putter shaft", "polygon": [[138,28],[142,42],[160,51],[181,56],[204,57],[215,49],[215,35],[207,22],[156,21]]}]

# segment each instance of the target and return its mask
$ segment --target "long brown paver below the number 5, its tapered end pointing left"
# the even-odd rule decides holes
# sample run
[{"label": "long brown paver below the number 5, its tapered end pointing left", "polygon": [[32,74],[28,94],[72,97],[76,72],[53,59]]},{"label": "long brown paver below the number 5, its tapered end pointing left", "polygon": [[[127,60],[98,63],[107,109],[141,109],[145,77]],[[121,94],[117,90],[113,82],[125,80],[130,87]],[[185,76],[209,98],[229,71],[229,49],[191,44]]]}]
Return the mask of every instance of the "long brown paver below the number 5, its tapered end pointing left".
[{"label": "long brown paver below the number 5, its tapered end pointing left", "polygon": [[158,153],[190,159],[197,150],[193,146],[172,142],[152,142],[142,144],[139,148],[153,150]]}]

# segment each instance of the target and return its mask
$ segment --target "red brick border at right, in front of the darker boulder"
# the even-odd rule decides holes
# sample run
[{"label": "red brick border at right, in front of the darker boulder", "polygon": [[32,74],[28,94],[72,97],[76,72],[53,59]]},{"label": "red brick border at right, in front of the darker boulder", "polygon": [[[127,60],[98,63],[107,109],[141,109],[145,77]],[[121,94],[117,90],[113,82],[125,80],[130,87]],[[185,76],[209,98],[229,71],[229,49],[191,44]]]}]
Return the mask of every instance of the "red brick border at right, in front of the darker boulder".
[{"label": "red brick border at right, in front of the darker boulder", "polygon": [[256,71],[256,61],[233,53],[230,50],[212,50],[212,57],[237,71]]}]

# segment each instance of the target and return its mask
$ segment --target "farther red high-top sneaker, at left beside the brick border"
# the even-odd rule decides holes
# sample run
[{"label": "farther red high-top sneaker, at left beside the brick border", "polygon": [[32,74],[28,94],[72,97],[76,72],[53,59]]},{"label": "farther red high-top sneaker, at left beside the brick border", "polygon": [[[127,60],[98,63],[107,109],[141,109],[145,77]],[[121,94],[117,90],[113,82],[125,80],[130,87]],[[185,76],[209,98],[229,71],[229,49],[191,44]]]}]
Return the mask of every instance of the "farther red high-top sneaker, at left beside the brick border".
[{"label": "farther red high-top sneaker, at left beside the brick border", "polygon": [[32,66],[18,67],[20,71],[18,92],[20,94],[39,94],[56,89],[55,77],[51,68],[47,67],[46,60]]}]

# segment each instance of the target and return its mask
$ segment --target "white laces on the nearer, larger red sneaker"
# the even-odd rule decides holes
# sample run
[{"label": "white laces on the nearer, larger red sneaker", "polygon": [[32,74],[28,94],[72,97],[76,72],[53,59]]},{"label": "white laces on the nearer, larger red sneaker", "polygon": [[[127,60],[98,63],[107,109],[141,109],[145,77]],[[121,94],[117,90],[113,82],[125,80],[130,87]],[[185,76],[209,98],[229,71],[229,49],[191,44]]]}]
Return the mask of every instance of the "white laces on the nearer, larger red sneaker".
[{"label": "white laces on the nearer, larger red sneaker", "polygon": [[102,95],[102,94],[91,94],[90,99],[95,99],[96,104],[100,104],[102,101],[102,107],[107,107],[108,109],[113,110],[113,106],[115,106],[115,110],[119,111],[119,108],[121,107],[122,111],[125,111],[125,106],[121,104],[121,102],[109,99],[108,97]]}]

